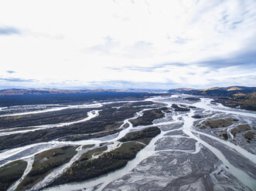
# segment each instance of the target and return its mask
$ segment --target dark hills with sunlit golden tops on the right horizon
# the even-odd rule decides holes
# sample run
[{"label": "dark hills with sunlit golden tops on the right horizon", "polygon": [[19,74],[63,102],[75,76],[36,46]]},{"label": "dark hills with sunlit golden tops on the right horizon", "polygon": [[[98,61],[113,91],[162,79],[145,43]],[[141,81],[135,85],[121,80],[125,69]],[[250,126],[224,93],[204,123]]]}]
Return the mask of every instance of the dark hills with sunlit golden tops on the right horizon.
[{"label": "dark hills with sunlit golden tops on the right horizon", "polygon": [[209,89],[170,89],[172,94],[204,95],[215,98],[224,106],[256,111],[256,87],[229,86]]}]

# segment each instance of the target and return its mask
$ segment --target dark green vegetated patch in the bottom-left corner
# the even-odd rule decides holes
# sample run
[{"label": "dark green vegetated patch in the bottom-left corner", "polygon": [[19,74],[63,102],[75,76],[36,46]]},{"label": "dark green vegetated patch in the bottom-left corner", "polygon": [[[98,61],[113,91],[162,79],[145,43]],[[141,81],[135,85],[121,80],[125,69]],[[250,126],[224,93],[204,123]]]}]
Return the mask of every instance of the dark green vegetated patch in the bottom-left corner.
[{"label": "dark green vegetated patch in the bottom-left corner", "polygon": [[17,160],[9,163],[0,169],[0,191],[7,190],[16,180],[22,177],[27,163],[23,160]]}]

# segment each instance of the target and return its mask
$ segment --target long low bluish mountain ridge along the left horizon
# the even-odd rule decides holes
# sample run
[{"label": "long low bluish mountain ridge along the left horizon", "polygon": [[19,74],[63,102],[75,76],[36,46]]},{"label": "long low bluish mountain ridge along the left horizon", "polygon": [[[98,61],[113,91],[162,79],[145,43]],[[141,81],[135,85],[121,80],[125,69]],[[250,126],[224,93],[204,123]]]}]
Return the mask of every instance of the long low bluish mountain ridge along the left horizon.
[{"label": "long low bluish mountain ridge along the left horizon", "polygon": [[[156,89],[2,89],[0,95],[47,95],[87,92],[163,92]],[[167,91],[166,91],[167,92]]]}]

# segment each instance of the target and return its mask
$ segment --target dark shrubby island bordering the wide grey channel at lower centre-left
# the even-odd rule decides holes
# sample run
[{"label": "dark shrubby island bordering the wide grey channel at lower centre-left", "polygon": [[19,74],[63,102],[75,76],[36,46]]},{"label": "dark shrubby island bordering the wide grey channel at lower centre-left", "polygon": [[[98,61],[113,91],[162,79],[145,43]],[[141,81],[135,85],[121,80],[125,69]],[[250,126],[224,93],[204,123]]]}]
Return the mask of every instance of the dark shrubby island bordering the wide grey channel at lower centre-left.
[{"label": "dark shrubby island bordering the wide grey channel at lower centre-left", "polygon": [[[104,152],[107,149],[107,146],[104,145],[92,149],[84,153],[76,163],[73,163],[62,176],[54,180],[49,186],[91,179],[115,169],[120,169],[129,160],[134,159],[136,154],[160,132],[161,130],[158,127],[151,127],[139,132],[129,132],[124,138],[119,139],[124,143],[111,152]],[[104,153],[97,159],[92,159],[91,156],[102,152]]]}]

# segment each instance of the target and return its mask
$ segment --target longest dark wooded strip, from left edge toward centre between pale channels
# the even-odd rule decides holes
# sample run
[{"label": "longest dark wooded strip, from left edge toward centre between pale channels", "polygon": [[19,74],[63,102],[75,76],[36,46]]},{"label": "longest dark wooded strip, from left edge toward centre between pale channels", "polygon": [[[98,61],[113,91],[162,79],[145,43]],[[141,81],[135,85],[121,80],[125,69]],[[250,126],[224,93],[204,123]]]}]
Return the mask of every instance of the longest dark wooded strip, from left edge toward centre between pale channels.
[{"label": "longest dark wooded strip, from left edge toward centre between pale channels", "polygon": [[[141,105],[148,106],[152,102],[139,102]],[[87,122],[80,122],[71,126],[56,127],[51,129],[37,130],[35,132],[26,132],[10,136],[0,136],[0,150],[9,149],[18,146],[29,145],[36,142],[48,142],[53,139],[64,137],[67,140],[91,139],[94,137],[107,136],[114,132],[106,132],[106,130],[117,129],[121,123],[134,116],[135,112],[141,108],[135,103],[113,103],[104,105],[100,116],[90,119]],[[114,106],[122,106],[120,109],[112,108]],[[36,116],[40,116],[37,114]],[[101,132],[99,134],[90,135],[90,133]],[[75,136],[77,134],[88,134],[86,136]],[[70,136],[74,135],[74,136]],[[68,137],[67,137],[68,136]],[[67,137],[67,138],[66,138]]]}]

